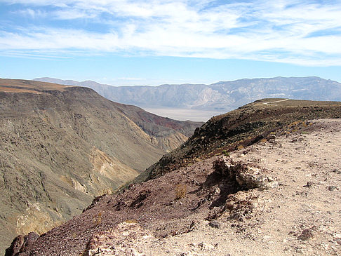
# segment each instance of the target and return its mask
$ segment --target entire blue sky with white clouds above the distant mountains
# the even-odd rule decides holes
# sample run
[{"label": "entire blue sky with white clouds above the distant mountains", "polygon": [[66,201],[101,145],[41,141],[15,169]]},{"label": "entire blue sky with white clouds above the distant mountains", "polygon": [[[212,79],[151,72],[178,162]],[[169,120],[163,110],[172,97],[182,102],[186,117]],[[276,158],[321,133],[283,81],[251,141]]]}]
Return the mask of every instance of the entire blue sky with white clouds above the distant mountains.
[{"label": "entire blue sky with white clouds above the distant mountains", "polygon": [[341,1],[0,0],[0,77],[341,82]]}]

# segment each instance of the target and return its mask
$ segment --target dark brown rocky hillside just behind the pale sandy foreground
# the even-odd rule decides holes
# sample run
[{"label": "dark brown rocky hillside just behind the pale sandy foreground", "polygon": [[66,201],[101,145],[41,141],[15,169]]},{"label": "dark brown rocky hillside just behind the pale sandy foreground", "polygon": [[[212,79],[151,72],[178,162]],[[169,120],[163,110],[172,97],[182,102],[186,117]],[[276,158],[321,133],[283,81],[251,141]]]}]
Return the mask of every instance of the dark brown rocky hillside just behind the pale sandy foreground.
[{"label": "dark brown rocky hillside just behind the pale sandy foreground", "polygon": [[316,118],[341,118],[341,102],[305,100],[257,100],[232,112],[215,116],[194,135],[140,175],[140,180],[163,175],[174,168],[215,154],[246,147],[295,121]]}]

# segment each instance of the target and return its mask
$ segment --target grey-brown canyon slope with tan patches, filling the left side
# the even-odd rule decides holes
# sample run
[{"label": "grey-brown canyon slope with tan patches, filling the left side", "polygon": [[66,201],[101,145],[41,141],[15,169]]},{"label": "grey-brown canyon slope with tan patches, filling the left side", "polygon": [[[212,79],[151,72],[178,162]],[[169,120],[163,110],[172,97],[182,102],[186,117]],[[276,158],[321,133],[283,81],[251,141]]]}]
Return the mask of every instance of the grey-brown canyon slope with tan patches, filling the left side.
[{"label": "grey-brown canyon slope with tan patches, filling the left side", "polygon": [[199,124],[116,104],[90,88],[0,79],[0,249],[81,213]]}]

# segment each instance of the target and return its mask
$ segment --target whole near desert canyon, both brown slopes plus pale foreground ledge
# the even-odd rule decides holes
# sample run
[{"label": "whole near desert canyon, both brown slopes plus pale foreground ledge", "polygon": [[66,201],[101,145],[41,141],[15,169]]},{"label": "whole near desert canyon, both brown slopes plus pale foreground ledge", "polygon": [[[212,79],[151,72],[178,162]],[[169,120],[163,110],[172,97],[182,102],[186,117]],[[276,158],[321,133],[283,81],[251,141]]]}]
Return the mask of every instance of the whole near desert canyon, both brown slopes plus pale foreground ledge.
[{"label": "whole near desert canyon, both brown slopes plus pale foreground ledge", "polygon": [[341,102],[206,123],[0,80],[7,255],[340,255]]}]

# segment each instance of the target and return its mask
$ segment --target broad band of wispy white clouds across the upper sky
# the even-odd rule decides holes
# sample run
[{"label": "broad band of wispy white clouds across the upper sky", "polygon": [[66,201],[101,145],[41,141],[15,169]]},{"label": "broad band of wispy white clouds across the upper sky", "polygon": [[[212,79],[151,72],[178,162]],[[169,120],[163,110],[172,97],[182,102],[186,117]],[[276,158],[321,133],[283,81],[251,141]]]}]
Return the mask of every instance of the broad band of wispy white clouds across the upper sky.
[{"label": "broad band of wispy white clouds across the upper sky", "polygon": [[[341,65],[339,1],[2,0],[43,19],[0,31],[0,50],[80,50]],[[3,5],[4,5],[3,4]],[[71,29],[51,20],[86,20]],[[71,24],[71,23],[69,23]],[[325,33],[328,31],[328,33]]]}]

